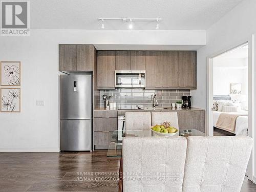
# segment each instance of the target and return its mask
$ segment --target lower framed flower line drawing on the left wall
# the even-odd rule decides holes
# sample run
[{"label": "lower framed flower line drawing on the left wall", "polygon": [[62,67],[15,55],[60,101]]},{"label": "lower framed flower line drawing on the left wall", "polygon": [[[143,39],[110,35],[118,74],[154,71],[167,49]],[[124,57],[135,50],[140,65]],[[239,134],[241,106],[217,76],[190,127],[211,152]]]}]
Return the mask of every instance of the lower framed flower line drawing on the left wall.
[{"label": "lower framed flower line drawing on the left wall", "polygon": [[1,112],[20,112],[20,88],[1,88]]}]

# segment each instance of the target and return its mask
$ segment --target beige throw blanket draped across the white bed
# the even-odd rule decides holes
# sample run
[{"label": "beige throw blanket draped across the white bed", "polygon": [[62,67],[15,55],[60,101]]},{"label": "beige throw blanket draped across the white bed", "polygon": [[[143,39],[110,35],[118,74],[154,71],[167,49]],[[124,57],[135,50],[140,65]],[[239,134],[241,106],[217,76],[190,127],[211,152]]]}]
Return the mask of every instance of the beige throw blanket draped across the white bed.
[{"label": "beige throw blanket draped across the white bed", "polygon": [[236,121],[239,116],[244,116],[244,114],[221,113],[216,126],[233,132],[236,128]]}]

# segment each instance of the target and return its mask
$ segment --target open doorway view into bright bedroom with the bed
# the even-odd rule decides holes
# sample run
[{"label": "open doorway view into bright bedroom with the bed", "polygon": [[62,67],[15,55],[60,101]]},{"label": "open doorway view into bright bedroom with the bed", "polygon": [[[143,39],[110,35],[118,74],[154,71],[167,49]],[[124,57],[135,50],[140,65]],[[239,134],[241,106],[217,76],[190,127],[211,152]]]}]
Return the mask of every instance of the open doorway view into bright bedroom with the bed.
[{"label": "open doorway view into bright bedroom with the bed", "polygon": [[213,58],[214,136],[248,136],[248,43]]}]

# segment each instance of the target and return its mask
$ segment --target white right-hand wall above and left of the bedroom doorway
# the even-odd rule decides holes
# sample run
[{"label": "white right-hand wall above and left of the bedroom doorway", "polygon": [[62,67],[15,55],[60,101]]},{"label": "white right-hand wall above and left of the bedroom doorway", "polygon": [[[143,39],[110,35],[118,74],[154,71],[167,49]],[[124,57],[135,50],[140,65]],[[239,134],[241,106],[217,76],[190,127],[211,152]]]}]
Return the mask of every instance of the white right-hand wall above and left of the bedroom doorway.
[{"label": "white right-hand wall above and left of the bedroom doorway", "polygon": [[[227,51],[250,40],[252,34],[256,33],[255,9],[255,0],[244,0],[207,30],[207,45],[200,48],[197,55],[198,84],[197,90],[191,91],[194,106],[206,109],[207,57],[215,56],[222,51]],[[254,116],[253,119],[255,118]],[[253,130],[255,130],[255,127],[253,127]],[[255,141],[254,154],[256,154]],[[253,172],[256,182],[256,165]]]}]

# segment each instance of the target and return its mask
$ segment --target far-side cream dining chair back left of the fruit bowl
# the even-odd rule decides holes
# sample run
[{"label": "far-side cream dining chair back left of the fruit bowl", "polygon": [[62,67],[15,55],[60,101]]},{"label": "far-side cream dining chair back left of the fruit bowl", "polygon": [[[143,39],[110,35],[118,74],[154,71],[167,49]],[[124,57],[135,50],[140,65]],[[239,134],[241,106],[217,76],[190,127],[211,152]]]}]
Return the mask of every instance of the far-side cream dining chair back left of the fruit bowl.
[{"label": "far-side cream dining chair back left of the fruit bowl", "polygon": [[126,112],[125,130],[150,130],[150,112]]}]

